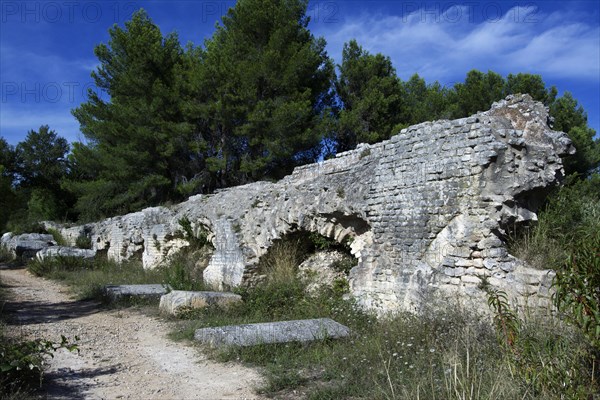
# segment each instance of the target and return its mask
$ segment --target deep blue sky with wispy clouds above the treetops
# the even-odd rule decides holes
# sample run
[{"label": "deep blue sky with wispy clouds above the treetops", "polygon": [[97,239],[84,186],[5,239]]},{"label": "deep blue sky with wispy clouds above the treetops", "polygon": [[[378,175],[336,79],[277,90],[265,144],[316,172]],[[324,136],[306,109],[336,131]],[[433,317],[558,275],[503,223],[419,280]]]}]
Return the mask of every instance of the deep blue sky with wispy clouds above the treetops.
[{"label": "deep blue sky with wispy clouds above the treetops", "polygon": [[[391,57],[398,75],[451,86],[471,69],[541,74],[570,91],[600,132],[600,6],[585,1],[311,1],[310,28],[341,62],[357,39]],[[94,46],[138,8],[163,34],[201,44],[235,1],[0,0],[0,135],[17,144],[48,124],[83,139],[70,110],[85,101]]]}]

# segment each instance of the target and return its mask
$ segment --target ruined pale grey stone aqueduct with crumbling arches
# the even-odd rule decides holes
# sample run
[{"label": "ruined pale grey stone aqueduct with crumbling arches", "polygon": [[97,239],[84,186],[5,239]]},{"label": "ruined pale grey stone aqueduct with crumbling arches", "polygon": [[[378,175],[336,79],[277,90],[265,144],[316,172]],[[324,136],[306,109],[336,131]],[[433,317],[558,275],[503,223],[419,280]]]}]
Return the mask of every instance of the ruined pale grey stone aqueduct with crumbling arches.
[{"label": "ruined pale grey stone aqueduct with crumbling arches", "polygon": [[217,287],[244,284],[275,240],[319,232],[351,242],[351,294],[378,312],[414,309],[436,293],[479,301],[482,276],[521,304],[546,304],[552,272],[508,254],[505,235],[536,218],[563,176],[560,156],[574,151],[548,119],[528,95],[509,96],[489,111],[411,126],[276,183],[60,229],[73,243],[88,235],[116,260],[141,254],[152,268],[187,245],[176,235],[187,217],[210,232],[215,251],[204,279]]}]

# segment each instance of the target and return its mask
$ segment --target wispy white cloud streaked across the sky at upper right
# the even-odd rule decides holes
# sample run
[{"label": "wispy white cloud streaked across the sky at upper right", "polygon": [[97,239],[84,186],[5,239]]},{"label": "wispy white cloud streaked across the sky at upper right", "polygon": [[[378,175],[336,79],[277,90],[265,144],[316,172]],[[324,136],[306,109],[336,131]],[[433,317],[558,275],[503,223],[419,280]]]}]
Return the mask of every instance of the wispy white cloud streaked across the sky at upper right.
[{"label": "wispy white cloud streaked across the sky at upper right", "polygon": [[[493,10],[492,10],[493,11]],[[600,27],[576,21],[572,12],[542,14],[514,7],[474,22],[465,7],[437,17],[369,15],[313,27],[341,63],[345,42],[355,38],[371,53],[390,56],[403,79],[417,72],[428,81],[451,84],[471,69],[506,74],[530,72],[546,79],[600,80]]]}]

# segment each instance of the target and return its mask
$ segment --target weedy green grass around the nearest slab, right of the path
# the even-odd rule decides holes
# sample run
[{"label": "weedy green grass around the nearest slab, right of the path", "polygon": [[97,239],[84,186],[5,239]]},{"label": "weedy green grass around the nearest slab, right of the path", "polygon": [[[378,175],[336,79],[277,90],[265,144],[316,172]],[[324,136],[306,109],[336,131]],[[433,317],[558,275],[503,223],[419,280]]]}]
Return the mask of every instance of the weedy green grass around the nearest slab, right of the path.
[{"label": "weedy green grass around the nearest slab, right of the path", "polygon": [[267,279],[238,290],[242,304],[190,311],[172,338],[191,340],[201,327],[317,317],[351,328],[345,340],[207,349],[218,360],[260,367],[261,391],[275,397],[579,399],[600,390],[598,350],[556,317],[519,320],[510,344],[489,317],[452,301],[377,319],[331,288],[308,293],[298,258],[280,243],[263,260]]}]

